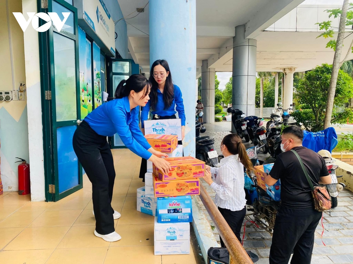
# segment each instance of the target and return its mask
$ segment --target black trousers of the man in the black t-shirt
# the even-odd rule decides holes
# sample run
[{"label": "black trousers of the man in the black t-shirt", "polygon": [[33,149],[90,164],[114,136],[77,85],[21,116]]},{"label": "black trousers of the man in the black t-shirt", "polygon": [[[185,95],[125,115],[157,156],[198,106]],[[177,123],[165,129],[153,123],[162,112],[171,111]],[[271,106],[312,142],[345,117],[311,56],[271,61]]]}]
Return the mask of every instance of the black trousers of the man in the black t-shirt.
[{"label": "black trousers of the man in the black t-shirt", "polygon": [[270,264],[310,264],[316,227],[322,212],[280,207],[276,215],[270,250]]}]

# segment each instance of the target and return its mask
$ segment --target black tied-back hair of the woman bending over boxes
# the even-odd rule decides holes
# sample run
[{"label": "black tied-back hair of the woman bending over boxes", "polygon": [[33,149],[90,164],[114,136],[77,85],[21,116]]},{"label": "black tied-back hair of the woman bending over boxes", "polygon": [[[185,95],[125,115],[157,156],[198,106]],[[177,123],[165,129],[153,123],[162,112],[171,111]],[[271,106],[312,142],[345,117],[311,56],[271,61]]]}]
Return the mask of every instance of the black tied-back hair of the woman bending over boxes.
[{"label": "black tied-back hair of the woman bending over boxes", "polygon": [[[124,85],[125,84],[125,85]],[[127,80],[122,80],[115,90],[115,98],[123,98],[130,95],[131,91],[136,93],[141,92],[144,88],[147,88],[142,98],[146,97],[151,88],[151,83],[145,76],[139,74],[131,75]]]}]

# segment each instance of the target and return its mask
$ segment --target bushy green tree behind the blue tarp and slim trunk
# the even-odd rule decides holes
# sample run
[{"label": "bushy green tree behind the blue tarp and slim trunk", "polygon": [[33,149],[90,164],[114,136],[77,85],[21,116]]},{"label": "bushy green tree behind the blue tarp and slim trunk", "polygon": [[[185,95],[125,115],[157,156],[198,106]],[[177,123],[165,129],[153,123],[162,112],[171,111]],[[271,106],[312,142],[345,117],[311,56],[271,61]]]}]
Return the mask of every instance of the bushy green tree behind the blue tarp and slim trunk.
[{"label": "bushy green tree behind the blue tarp and slim trunk", "polygon": [[[308,71],[295,90],[294,97],[297,102],[309,109],[296,111],[292,115],[298,122],[304,124],[306,130],[320,131],[324,128],[331,72],[332,65],[322,64]],[[352,78],[339,70],[330,124],[346,124],[347,119],[353,120],[353,108],[348,107],[352,97]]]}]

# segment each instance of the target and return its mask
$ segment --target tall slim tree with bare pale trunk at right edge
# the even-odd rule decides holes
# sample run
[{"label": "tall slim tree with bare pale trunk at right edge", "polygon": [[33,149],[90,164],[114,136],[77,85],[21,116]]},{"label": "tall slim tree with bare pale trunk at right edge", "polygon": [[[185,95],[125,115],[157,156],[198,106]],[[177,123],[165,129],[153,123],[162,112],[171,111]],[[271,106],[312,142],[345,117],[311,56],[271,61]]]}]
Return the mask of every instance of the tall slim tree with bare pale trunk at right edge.
[{"label": "tall slim tree with bare pale trunk at right edge", "polygon": [[[349,7],[348,7],[349,6]],[[345,37],[345,32],[352,32],[352,30],[346,30],[348,28],[352,29],[353,26],[353,11],[352,7],[353,4],[349,4],[349,0],[343,0],[342,9],[335,8],[331,10],[325,10],[329,13],[329,18],[340,18],[340,24],[338,31],[337,27],[332,26],[332,21],[323,21],[321,23],[317,23],[320,27],[320,30],[325,30],[321,33],[318,37],[324,38],[333,38],[334,34],[337,33],[337,40],[331,39],[326,45],[326,48],[334,49],[335,55],[333,59],[333,67],[331,71],[331,78],[330,78],[330,86],[328,89],[328,97],[327,97],[327,104],[326,104],[326,111],[325,111],[325,121],[324,121],[324,128],[328,128],[330,126],[330,121],[332,120],[331,115],[334,114],[334,103],[335,103],[335,89],[337,88],[336,82],[339,75],[339,69],[342,64],[347,60],[349,54],[353,52],[353,40],[351,45],[349,45],[348,52],[345,58],[341,61],[341,54],[342,54],[342,46],[343,40]]]}]

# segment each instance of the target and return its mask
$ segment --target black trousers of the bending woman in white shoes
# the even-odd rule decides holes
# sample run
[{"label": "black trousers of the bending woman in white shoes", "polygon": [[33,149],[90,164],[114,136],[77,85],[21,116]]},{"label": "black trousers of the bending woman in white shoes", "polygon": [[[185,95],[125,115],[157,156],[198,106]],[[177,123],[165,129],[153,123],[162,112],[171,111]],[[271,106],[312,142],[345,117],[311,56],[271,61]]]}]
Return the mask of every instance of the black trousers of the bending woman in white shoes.
[{"label": "black trousers of the bending woman in white shoes", "polygon": [[73,150],[92,183],[92,202],[96,231],[106,235],[115,231],[110,203],[113,197],[115,169],[107,137],[98,135],[85,121],[77,127]]}]

